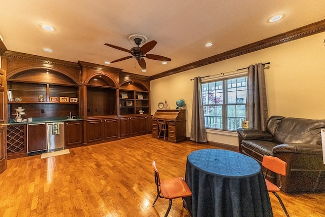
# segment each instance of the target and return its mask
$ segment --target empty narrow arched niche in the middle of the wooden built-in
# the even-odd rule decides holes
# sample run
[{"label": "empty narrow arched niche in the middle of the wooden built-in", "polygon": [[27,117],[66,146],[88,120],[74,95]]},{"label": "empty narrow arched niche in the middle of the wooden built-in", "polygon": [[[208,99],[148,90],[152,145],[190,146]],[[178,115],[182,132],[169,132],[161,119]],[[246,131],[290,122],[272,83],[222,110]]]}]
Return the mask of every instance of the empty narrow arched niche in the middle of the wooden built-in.
[{"label": "empty narrow arched niche in the middle of the wooden built-in", "polygon": [[108,75],[96,74],[85,81],[87,117],[117,116],[118,86]]}]

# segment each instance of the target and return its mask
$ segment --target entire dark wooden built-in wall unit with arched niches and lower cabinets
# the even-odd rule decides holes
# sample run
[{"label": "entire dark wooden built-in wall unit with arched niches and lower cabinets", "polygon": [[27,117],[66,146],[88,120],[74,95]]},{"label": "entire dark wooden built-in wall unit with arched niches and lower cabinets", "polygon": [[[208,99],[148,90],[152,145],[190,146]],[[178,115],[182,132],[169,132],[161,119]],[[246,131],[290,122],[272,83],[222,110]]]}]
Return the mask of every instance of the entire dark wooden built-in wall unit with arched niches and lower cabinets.
[{"label": "entire dark wooden built-in wall unit with arched niches and lower cabinets", "polygon": [[[26,120],[64,121],[66,148],[152,131],[149,77],[104,65],[11,51],[2,56],[2,62],[7,70],[4,98],[7,99],[7,90],[12,95],[5,102],[8,122],[15,119],[18,107],[25,109],[21,118]],[[66,121],[70,113],[78,120]],[[7,137],[8,156],[46,150],[46,124],[42,123],[22,122],[5,128],[14,137]]]}]

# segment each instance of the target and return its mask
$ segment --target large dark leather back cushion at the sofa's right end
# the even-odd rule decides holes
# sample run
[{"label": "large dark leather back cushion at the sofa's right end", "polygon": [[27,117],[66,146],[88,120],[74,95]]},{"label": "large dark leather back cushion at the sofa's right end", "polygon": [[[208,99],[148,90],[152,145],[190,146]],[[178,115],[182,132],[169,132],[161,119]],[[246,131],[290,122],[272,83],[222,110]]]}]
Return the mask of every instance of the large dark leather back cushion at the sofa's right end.
[{"label": "large dark leather back cushion at the sofa's right end", "polygon": [[321,145],[320,129],[325,120],[283,118],[273,135],[276,143],[309,143]]}]

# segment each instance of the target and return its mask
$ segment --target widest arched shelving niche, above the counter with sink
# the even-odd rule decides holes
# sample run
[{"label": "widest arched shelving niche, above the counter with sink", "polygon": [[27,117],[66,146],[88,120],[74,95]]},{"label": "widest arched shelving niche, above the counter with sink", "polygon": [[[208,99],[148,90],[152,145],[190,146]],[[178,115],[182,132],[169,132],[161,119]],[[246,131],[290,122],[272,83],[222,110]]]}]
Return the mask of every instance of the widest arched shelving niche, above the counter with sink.
[{"label": "widest arched shelving niche, above the counter with sink", "polygon": [[60,69],[24,67],[7,74],[8,119],[13,119],[15,108],[25,108],[27,118],[80,116],[81,84]]}]

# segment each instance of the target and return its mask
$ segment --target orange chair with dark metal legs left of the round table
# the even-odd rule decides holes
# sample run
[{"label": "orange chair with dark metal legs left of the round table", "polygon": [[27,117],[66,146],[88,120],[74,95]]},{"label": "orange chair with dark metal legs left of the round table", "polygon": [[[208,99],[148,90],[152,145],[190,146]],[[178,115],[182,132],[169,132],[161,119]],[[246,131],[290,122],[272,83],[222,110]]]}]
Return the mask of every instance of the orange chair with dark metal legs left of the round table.
[{"label": "orange chair with dark metal legs left of the round table", "polygon": [[[154,180],[157,186],[157,196],[152,206],[154,206],[158,197],[169,199],[169,206],[165,214],[165,217],[167,217],[172,207],[172,199],[192,196],[192,192],[182,177],[171,178],[160,182],[160,177],[155,161],[152,161],[152,167],[154,170]],[[185,202],[184,205],[187,209]]]}]

